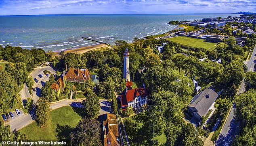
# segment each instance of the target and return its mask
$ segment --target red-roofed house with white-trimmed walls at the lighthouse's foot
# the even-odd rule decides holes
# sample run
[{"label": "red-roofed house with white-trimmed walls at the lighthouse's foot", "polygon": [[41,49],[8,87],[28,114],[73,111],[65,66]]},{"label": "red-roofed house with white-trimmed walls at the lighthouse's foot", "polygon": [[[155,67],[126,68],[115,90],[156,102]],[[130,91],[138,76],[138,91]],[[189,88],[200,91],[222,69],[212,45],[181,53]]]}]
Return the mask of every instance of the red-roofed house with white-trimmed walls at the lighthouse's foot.
[{"label": "red-roofed house with white-trimmed walls at the lighthouse's foot", "polygon": [[143,87],[127,90],[125,95],[119,95],[118,97],[122,108],[147,105],[147,91]]}]

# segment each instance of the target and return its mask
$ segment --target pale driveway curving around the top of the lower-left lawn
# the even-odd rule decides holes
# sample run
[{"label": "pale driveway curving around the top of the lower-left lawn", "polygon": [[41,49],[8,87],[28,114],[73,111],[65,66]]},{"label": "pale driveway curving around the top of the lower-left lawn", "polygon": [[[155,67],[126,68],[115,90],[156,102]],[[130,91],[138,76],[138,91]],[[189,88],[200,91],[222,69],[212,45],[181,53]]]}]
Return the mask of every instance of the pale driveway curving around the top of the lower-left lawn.
[{"label": "pale driveway curving around the top of the lower-left lawn", "polygon": [[[50,110],[55,110],[57,108],[63,107],[63,106],[72,106],[72,107],[82,107],[83,99],[63,99],[60,101],[56,101],[54,103],[50,103]],[[22,110],[19,110],[21,112],[21,116],[17,116],[16,112],[13,112],[13,119],[8,119],[6,122],[4,122],[4,125],[9,124],[10,129],[13,132],[14,130],[20,130],[21,128],[31,124],[35,120],[35,112],[31,111],[29,114],[24,114]]]}]

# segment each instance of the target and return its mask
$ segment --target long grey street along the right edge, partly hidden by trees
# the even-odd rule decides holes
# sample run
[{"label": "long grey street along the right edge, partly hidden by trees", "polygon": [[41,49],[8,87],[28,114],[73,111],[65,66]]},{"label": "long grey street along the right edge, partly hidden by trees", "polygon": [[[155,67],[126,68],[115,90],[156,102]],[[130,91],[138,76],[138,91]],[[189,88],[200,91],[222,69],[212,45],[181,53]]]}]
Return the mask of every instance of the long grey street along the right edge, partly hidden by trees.
[{"label": "long grey street along the right edge, partly hidden by trees", "polygon": [[[250,60],[245,62],[248,67],[247,71],[255,71],[254,69],[254,65],[256,63],[255,55],[256,55],[256,46],[254,47]],[[241,94],[244,91],[245,91],[245,84],[244,84],[244,81],[242,81],[237,91],[237,94]],[[235,102],[232,103],[231,110],[229,111],[229,115],[227,117],[225,124],[222,127],[222,130],[220,131],[220,135],[216,142],[216,146],[231,146],[232,140],[235,137],[237,131],[239,130],[239,122],[235,121],[234,112],[235,112]]]}]

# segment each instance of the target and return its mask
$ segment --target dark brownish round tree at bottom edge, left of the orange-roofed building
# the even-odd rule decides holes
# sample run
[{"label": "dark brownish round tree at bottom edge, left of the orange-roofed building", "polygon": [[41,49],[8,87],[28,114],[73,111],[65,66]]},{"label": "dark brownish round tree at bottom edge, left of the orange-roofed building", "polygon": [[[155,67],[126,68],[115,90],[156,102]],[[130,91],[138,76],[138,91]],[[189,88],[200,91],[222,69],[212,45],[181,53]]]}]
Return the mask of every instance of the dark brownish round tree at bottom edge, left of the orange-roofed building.
[{"label": "dark brownish round tree at bottom edge, left of the orange-roofed building", "polygon": [[101,127],[90,118],[83,118],[70,133],[71,146],[101,146]]}]

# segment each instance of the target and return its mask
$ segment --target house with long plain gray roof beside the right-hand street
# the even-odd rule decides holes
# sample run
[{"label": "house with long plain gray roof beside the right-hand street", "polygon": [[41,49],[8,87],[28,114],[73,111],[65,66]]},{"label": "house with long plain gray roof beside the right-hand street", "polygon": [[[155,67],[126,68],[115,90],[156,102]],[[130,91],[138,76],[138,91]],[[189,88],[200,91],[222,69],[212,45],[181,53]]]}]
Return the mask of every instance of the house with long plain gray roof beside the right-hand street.
[{"label": "house with long plain gray roof beside the right-hand street", "polygon": [[218,93],[212,89],[205,89],[193,97],[192,101],[187,106],[187,109],[192,116],[194,124],[199,124],[201,117],[206,116],[217,97]]}]

